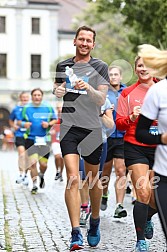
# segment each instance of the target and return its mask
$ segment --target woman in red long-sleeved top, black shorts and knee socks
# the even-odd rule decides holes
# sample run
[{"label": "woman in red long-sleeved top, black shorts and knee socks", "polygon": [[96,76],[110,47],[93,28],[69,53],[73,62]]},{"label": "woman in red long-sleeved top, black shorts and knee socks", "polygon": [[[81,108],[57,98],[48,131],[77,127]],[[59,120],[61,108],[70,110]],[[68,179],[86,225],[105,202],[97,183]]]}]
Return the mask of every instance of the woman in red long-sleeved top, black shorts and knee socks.
[{"label": "woman in red long-sleeved top, black shorts and knee socks", "polygon": [[[135,72],[138,81],[125,88],[119,97],[116,126],[118,130],[126,131],[124,136],[125,164],[131,175],[137,196],[133,210],[137,235],[135,251],[140,252],[149,251],[145,238],[151,239],[153,236],[151,217],[156,213],[156,209],[151,190],[151,180],[153,179],[151,169],[156,146],[138,142],[135,138],[135,131],[143,99],[155,80],[150,76],[140,57],[135,60]],[[153,133],[156,133],[156,124],[155,122],[155,125],[150,128]]]}]

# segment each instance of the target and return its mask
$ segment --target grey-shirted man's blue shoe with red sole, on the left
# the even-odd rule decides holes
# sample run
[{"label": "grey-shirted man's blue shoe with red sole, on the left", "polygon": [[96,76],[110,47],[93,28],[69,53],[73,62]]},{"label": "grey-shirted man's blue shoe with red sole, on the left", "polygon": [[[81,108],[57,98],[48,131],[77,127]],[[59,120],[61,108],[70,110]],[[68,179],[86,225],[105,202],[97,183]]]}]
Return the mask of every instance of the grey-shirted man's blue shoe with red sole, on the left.
[{"label": "grey-shirted man's blue shoe with red sole, on the left", "polygon": [[71,244],[70,251],[83,249],[83,237],[78,230],[73,230],[71,232]]}]

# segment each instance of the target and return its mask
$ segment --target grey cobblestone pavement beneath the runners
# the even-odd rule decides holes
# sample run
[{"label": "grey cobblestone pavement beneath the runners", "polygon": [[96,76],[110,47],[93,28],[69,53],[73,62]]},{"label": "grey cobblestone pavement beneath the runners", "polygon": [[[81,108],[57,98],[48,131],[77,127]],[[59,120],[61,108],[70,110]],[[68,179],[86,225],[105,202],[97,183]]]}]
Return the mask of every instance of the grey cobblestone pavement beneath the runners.
[{"label": "grey cobblestone pavement beneath the runners", "polygon": [[[69,251],[70,223],[64,203],[65,182],[54,180],[53,156],[46,172],[46,187],[37,195],[28,188],[15,183],[17,176],[17,153],[0,151],[0,241],[4,249],[11,252]],[[65,173],[63,174],[65,178]],[[86,243],[86,228],[82,228],[85,248],[89,252],[132,252],[136,238],[132,220],[131,197],[125,196],[124,206],[128,210],[125,220],[117,222],[112,215],[115,208],[114,183],[110,183],[108,209],[101,212],[101,242],[97,248]],[[65,179],[64,179],[65,180]],[[165,241],[159,219],[154,217],[155,234],[150,242],[151,252],[163,252]]]}]

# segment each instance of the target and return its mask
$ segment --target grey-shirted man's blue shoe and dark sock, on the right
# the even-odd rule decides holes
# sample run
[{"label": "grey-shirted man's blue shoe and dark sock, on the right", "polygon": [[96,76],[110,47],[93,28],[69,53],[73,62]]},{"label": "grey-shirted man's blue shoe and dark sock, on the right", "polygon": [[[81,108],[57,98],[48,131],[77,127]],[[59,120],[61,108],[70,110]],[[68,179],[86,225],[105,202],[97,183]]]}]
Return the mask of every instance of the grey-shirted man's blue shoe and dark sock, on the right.
[{"label": "grey-shirted man's blue shoe and dark sock, on the right", "polygon": [[90,227],[87,234],[87,241],[89,246],[96,247],[100,242],[100,218],[97,224],[92,222],[92,217],[90,217]]}]

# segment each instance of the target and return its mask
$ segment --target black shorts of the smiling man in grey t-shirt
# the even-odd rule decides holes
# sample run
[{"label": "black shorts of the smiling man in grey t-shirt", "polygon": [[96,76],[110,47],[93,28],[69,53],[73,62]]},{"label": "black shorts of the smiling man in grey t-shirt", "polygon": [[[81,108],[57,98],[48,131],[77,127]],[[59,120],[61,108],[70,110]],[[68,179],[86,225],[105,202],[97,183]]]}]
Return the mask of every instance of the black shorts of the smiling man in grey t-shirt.
[{"label": "black shorts of the smiling man in grey t-shirt", "polygon": [[76,126],[61,126],[60,147],[63,157],[67,154],[80,154],[93,165],[100,163],[102,152],[102,129],[84,129]]}]

